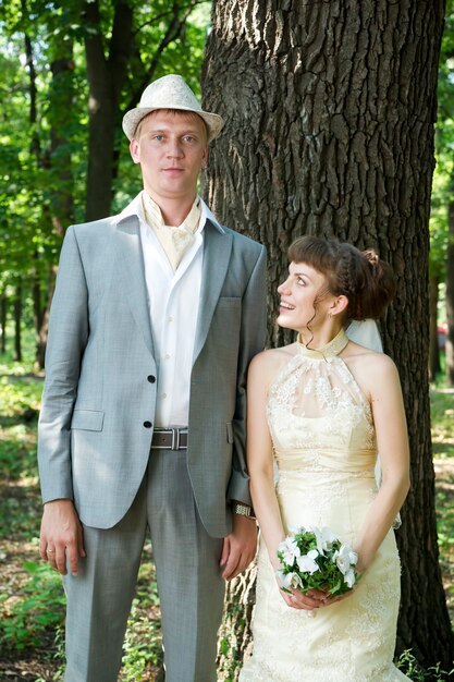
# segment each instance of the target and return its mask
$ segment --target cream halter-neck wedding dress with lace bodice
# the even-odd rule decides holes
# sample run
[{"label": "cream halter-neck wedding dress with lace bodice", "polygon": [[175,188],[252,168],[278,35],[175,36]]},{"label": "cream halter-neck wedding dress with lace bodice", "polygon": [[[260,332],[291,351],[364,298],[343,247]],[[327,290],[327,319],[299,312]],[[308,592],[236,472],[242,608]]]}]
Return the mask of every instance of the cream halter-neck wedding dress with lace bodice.
[{"label": "cream halter-neck wedding dress with lace bodice", "polygon": [[[329,526],[354,545],[377,494],[368,401],[339,354],[344,331],[320,351],[298,351],[271,387],[268,422],[286,531]],[[401,565],[390,531],[356,590],[307,611],[282,599],[265,543],[258,553],[254,650],[240,682],[402,682],[393,665]]]}]

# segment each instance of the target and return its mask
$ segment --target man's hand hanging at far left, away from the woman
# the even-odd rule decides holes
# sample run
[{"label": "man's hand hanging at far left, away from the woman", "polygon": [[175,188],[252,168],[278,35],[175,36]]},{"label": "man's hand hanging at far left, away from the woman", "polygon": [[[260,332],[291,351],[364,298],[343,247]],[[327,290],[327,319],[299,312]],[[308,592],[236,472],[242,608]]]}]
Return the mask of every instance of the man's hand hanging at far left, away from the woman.
[{"label": "man's hand hanging at far left, away from the woman", "polygon": [[46,502],[39,539],[41,559],[49,561],[62,575],[66,575],[66,559],[71,573],[77,575],[79,557],[85,557],[82,525],[72,500]]}]

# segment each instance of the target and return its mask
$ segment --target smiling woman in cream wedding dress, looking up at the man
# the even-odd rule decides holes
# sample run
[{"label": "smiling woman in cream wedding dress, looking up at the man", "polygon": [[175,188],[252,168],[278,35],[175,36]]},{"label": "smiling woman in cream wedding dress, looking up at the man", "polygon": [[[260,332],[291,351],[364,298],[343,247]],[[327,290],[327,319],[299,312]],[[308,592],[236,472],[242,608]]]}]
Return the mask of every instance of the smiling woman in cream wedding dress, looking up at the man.
[{"label": "smiling woman in cream wedding dress, looking up at the man", "polygon": [[[394,277],[373,251],[315,236],[298,239],[289,256],[278,324],[298,340],[257,355],[248,377],[248,468],[261,539],[254,653],[240,680],[408,680],[392,663],[401,569],[391,527],[409,487],[402,391],[391,358],[345,333],[352,319],[383,313]],[[357,552],[361,579],[344,597],[281,589],[278,545],[303,525],[328,526]]]}]

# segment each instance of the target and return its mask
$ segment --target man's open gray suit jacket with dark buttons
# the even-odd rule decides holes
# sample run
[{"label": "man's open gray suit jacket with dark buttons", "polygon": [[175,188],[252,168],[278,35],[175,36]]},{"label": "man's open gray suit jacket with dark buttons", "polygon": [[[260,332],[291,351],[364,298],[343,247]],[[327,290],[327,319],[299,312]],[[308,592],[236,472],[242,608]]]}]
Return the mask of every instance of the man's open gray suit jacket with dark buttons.
[{"label": "man's open gray suit jacket with dark buttons", "polygon": [[[245,383],[265,341],[265,247],[207,221],[200,295],[187,465],[201,521],[222,537],[231,528],[229,500],[249,501]],[[73,499],[94,527],[123,517],[147,467],[156,374],[137,217],[71,227],[38,429],[44,502]]]}]

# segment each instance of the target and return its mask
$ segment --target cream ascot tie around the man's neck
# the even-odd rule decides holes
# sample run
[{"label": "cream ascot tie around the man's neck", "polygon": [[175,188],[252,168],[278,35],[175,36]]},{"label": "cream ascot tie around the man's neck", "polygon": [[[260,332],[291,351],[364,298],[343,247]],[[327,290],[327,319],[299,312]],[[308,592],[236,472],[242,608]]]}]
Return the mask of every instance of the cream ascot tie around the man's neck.
[{"label": "cream ascot tie around the man's neck", "polygon": [[145,220],[157,235],[169,259],[172,270],[175,272],[185,252],[194,241],[194,235],[200,222],[200,197],[196,196],[192,209],[181,226],[171,227],[164,224],[161,209],[146,192],[143,192],[143,206]]}]

